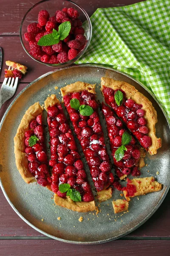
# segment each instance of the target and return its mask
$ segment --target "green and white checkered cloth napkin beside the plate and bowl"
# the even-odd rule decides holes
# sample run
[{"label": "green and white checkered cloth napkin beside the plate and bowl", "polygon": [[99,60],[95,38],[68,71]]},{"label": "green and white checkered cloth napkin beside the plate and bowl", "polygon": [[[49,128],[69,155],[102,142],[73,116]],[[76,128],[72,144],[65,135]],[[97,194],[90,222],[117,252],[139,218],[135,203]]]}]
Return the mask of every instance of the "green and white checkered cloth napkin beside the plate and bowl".
[{"label": "green and white checkered cloth napkin beside the plate and bowl", "polygon": [[170,0],[99,8],[91,44],[77,64],[105,64],[152,91],[170,119]]}]

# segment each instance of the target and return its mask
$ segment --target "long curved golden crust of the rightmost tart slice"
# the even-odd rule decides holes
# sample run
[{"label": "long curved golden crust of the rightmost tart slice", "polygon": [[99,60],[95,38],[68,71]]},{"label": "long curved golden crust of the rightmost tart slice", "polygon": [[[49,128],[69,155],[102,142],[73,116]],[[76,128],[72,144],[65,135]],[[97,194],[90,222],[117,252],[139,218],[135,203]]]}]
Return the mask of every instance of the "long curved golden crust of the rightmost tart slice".
[{"label": "long curved golden crust of the rightmost tart slice", "polygon": [[134,86],[123,81],[102,77],[101,86],[101,90],[103,90],[104,87],[110,87],[113,90],[122,89],[125,91],[127,99],[133,99],[137,104],[142,104],[142,109],[145,110],[144,118],[147,120],[147,128],[149,130],[148,136],[152,140],[152,145],[150,145],[148,151],[151,155],[156,154],[157,149],[161,147],[161,138],[156,137],[155,125],[158,122],[158,119],[156,110],[150,100],[136,90]]}]

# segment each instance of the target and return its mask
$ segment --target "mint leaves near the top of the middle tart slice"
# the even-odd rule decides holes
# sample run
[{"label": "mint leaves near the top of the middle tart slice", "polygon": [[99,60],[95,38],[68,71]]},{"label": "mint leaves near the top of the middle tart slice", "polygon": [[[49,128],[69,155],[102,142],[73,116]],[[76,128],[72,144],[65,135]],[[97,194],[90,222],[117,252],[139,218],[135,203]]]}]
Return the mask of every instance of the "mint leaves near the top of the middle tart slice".
[{"label": "mint leaves near the top of the middle tart slice", "polygon": [[82,116],[91,116],[94,113],[93,108],[91,108],[88,105],[81,105],[79,103],[78,99],[71,99],[70,101],[71,108],[74,108],[76,110],[79,110],[79,113]]}]

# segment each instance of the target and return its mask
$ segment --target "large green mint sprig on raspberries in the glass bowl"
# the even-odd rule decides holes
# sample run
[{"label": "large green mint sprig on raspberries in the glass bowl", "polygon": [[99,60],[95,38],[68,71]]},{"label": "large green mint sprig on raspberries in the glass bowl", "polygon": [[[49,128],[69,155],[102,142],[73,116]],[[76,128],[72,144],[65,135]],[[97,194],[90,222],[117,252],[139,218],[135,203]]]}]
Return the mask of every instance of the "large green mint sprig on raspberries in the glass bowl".
[{"label": "large green mint sprig on raspberries in the glass bowl", "polygon": [[53,32],[51,34],[42,36],[37,44],[40,46],[58,44],[60,40],[64,40],[69,35],[70,29],[70,21],[65,21],[59,25],[58,31],[56,29],[53,29]]}]

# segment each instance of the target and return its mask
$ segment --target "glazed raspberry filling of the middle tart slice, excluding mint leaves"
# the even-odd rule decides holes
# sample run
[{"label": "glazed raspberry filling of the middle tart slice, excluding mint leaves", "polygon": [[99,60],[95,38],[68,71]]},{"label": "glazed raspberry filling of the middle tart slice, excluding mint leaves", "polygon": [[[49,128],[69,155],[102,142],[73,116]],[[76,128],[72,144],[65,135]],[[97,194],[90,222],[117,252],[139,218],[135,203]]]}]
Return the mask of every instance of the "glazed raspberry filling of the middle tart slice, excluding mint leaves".
[{"label": "glazed raspberry filling of the middle tart slice, excluding mint leaves", "polygon": [[[101,191],[113,182],[114,177],[111,173],[95,95],[84,90],[77,93],[68,93],[63,99],[74,126],[74,131],[85,154],[94,186],[97,191]],[[90,106],[94,113],[91,116],[82,116],[79,111],[71,108],[71,99],[78,99],[80,105]]]}]

